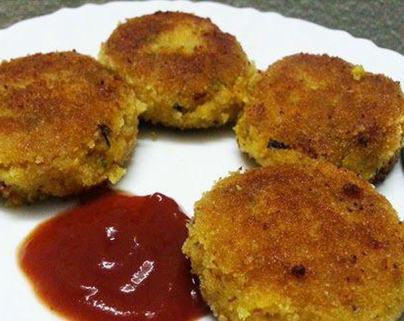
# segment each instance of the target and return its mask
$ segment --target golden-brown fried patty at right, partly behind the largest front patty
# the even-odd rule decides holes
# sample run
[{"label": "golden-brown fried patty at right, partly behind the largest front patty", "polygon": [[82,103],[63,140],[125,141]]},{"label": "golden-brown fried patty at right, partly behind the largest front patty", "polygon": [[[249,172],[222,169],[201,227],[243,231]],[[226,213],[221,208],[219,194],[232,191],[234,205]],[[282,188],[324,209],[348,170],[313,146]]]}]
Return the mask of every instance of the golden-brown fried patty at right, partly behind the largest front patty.
[{"label": "golden-brown fried patty at right, partly behind the largest front patty", "polygon": [[398,158],[403,126],[397,82],[336,57],[298,54],[259,76],[235,131],[261,165],[304,153],[377,182]]}]

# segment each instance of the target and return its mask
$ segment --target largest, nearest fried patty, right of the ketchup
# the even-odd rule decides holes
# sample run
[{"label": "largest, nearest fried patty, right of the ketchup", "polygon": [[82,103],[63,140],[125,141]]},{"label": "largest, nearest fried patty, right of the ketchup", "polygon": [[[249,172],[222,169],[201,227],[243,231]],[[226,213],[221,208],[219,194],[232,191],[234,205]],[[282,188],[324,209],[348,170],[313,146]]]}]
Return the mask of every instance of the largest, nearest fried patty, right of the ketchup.
[{"label": "largest, nearest fried patty, right of the ketchup", "polygon": [[325,161],[219,180],[183,246],[219,320],[397,320],[404,224],[357,174]]}]

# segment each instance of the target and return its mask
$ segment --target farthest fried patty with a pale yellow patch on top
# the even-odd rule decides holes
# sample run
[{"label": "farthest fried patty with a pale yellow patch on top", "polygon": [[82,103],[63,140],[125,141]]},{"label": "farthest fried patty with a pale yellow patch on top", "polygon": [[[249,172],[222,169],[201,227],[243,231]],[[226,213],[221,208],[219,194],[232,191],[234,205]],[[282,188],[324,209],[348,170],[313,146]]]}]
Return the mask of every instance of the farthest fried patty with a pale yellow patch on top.
[{"label": "farthest fried patty with a pale yellow patch on top", "polygon": [[234,36],[179,12],[129,19],[102,44],[99,60],[147,104],[145,120],[181,129],[234,121],[255,74]]}]

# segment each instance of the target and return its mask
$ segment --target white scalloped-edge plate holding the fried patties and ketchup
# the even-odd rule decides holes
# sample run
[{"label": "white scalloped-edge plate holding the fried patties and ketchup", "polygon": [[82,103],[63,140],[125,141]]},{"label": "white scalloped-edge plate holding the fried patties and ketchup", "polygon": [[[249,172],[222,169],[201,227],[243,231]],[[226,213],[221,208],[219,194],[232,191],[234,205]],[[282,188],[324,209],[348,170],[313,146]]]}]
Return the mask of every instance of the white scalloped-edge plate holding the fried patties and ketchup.
[{"label": "white scalloped-edge plate holding the fried patties and ketchup", "polygon": [[[261,69],[297,52],[328,53],[404,83],[404,57],[379,48],[369,40],[276,13],[210,2],[114,2],[61,9],[0,30],[0,60],[71,49],[96,57],[100,43],[107,39],[118,21],[156,10],[181,10],[210,17],[222,30],[238,38],[247,55]],[[162,192],[173,197],[191,216],[194,202],[217,178],[249,165],[238,150],[231,130],[197,134],[158,131],[156,141],[152,141],[150,132],[144,130],[128,173],[118,188],[138,195]],[[399,162],[378,187],[401,218],[404,218],[403,186],[404,173]],[[72,203],[52,202],[13,210],[0,207],[1,320],[59,319],[38,302],[19,271],[16,250],[39,222]]]}]

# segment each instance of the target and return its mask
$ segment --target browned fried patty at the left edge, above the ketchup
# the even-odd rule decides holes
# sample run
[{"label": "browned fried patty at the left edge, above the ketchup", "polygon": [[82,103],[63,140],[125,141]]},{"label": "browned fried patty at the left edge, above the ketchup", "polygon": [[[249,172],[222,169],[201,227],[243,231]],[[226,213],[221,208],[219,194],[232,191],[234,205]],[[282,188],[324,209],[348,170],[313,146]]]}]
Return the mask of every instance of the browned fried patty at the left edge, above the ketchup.
[{"label": "browned fried patty at the left edge, above the ketchup", "polygon": [[142,104],[124,80],[76,52],[0,65],[0,192],[10,204],[115,183]]}]

